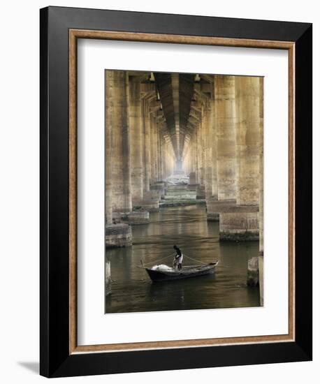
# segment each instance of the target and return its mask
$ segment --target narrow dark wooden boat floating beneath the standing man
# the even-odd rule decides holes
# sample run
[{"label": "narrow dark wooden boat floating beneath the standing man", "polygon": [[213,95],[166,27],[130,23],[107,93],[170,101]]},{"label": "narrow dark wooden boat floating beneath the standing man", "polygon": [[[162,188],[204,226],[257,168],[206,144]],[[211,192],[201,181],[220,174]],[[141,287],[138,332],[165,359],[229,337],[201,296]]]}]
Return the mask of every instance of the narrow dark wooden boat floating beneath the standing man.
[{"label": "narrow dark wooden boat floating beneath the standing man", "polygon": [[152,281],[168,281],[212,274],[218,263],[219,261],[205,265],[186,265],[180,270],[174,269],[173,271],[159,271],[157,269],[144,268]]}]

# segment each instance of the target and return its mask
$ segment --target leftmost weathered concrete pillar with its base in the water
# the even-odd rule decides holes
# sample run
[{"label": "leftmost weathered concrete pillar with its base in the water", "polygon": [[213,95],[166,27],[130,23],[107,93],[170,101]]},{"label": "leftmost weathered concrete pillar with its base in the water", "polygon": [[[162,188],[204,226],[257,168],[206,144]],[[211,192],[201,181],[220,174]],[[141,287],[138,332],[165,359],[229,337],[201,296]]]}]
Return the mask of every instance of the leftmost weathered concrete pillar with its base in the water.
[{"label": "leftmost weathered concrete pillar with its base in the water", "polygon": [[106,71],[105,80],[106,247],[112,248],[132,244],[131,227],[115,224],[112,217],[113,212],[131,212],[128,75],[126,71]]}]

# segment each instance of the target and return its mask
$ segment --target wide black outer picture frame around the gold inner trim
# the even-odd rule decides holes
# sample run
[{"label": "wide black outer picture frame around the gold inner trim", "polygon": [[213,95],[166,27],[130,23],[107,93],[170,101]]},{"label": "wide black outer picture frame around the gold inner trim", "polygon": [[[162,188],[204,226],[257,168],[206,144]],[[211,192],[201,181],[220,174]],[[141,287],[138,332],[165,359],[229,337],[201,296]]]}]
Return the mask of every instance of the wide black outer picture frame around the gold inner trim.
[{"label": "wide black outer picture frame around the gold inner trim", "polygon": [[[41,375],[312,360],[312,24],[61,7],[41,9],[40,19]],[[295,341],[69,354],[69,29],[295,43]]]}]

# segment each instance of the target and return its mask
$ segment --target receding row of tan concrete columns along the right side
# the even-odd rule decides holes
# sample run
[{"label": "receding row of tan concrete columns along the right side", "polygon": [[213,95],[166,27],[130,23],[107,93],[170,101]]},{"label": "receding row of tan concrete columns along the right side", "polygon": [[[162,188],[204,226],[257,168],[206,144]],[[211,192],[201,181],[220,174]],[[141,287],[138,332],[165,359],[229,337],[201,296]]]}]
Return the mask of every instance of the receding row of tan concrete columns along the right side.
[{"label": "receding row of tan concrete columns along the right side", "polygon": [[208,220],[219,221],[221,240],[258,240],[263,226],[263,79],[216,75],[209,80],[210,93],[196,92],[199,119],[184,153],[184,169],[198,197],[205,199]]}]

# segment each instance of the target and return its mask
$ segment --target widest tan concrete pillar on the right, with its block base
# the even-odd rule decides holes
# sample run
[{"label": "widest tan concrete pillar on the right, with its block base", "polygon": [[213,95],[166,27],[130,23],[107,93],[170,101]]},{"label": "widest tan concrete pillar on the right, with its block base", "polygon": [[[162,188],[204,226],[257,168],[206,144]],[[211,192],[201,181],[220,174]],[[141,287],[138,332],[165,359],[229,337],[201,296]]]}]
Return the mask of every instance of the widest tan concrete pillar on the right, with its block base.
[{"label": "widest tan concrete pillar on the right, with its block base", "polygon": [[259,240],[260,81],[259,77],[235,78],[236,205],[220,215],[220,239]]}]

